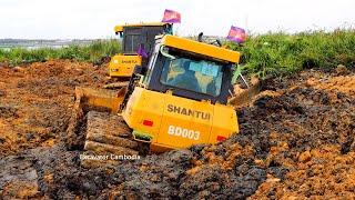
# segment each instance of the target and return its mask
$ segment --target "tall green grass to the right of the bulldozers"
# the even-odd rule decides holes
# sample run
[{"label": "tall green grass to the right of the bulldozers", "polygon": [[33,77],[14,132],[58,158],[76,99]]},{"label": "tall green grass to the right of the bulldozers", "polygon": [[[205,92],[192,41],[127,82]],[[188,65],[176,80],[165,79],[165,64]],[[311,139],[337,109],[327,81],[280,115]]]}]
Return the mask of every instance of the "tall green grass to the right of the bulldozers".
[{"label": "tall green grass to the right of the bulldozers", "polygon": [[354,29],[248,36],[244,47],[229,44],[242,52],[242,69],[260,77],[288,74],[305,68],[355,67]]}]

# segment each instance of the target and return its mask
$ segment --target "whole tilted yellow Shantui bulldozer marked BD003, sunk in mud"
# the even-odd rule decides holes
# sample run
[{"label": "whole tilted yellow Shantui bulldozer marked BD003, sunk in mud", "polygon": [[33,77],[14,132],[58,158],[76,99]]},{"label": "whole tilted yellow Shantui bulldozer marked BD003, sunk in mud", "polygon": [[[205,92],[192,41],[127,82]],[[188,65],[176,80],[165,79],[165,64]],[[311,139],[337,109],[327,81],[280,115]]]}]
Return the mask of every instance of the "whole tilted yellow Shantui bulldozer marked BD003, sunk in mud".
[{"label": "whole tilted yellow Shantui bulldozer marked BD003, sunk in mud", "polygon": [[[126,43],[124,48],[132,47]],[[81,160],[83,166],[114,163],[97,159],[109,154],[144,156],[216,143],[239,132],[227,102],[240,52],[171,34],[156,36],[148,49],[149,62],[136,62],[125,73],[131,73],[126,88],[75,89],[67,142],[90,158]]]}]

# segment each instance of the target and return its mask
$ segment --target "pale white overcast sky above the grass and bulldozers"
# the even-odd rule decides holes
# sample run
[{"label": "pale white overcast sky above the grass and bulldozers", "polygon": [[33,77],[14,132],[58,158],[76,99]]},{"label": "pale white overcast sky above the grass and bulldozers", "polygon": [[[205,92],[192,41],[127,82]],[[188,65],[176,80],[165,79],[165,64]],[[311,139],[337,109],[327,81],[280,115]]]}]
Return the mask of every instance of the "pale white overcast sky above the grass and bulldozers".
[{"label": "pale white overcast sky above the grass and bulldozers", "polygon": [[355,0],[0,0],[0,39],[114,38],[113,27],[179,11],[179,36],[300,32],[355,27]]}]

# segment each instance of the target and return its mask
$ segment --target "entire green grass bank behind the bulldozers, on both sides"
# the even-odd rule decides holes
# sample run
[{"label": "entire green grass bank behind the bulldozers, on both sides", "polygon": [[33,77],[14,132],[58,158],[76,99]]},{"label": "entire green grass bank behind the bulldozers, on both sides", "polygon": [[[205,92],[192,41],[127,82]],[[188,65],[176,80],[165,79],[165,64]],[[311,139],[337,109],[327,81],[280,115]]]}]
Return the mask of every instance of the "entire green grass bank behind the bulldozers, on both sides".
[{"label": "entire green grass bank behind the bulldozers, on both sides", "polygon": [[[355,29],[248,36],[243,46],[229,44],[242,52],[243,70],[260,77],[287,74],[305,68],[355,66]],[[115,39],[97,40],[88,46],[73,44],[61,49],[0,49],[0,62],[8,62],[10,66],[48,59],[95,62],[102,57],[111,57],[120,51],[121,44]]]}]

